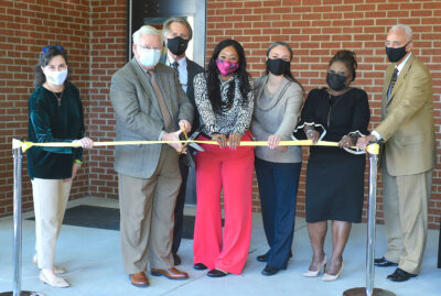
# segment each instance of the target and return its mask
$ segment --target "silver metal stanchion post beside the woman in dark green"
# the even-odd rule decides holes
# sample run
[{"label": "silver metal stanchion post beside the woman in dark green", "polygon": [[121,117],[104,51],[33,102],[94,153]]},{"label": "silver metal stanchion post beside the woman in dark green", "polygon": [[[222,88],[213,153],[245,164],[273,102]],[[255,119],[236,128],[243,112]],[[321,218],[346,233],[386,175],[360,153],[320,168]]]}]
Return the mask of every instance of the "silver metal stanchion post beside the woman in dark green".
[{"label": "silver metal stanchion post beside the woman in dark green", "polygon": [[13,286],[12,292],[0,293],[0,296],[43,296],[36,292],[21,290],[21,167],[23,152],[21,146],[13,147],[14,188],[13,188]]}]

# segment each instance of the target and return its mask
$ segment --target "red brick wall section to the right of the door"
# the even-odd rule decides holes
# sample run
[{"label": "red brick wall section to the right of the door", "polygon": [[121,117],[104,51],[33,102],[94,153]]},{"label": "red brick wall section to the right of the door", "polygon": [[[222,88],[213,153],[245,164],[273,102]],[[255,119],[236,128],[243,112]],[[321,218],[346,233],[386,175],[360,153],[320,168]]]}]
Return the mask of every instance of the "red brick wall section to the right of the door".
[{"label": "red brick wall section to the right of the door", "polygon": [[[441,123],[441,2],[437,0],[211,0],[207,3],[207,55],[226,37],[239,41],[246,51],[249,72],[265,70],[265,53],[275,41],[288,42],[294,53],[292,72],[306,91],[325,86],[327,62],[342,48],[358,56],[355,86],[365,89],[372,110],[370,129],[380,118],[383,75],[387,66],[385,39],[388,29],[406,23],[415,31],[413,51],[433,78],[435,131],[440,146]],[[298,215],[304,215],[304,162],[298,195]],[[440,150],[438,160],[440,162]],[[367,177],[367,172],[366,172]],[[367,178],[366,178],[367,179]],[[439,226],[441,172],[433,173],[429,222]],[[366,182],[367,185],[367,182]],[[380,183],[378,184],[380,187]],[[366,188],[367,189],[367,188]],[[257,194],[256,194],[257,196]],[[366,190],[367,196],[367,190]],[[381,191],[379,190],[379,200]],[[255,197],[255,210],[259,202]],[[379,209],[383,205],[379,204]],[[383,211],[378,212],[383,217]],[[364,217],[366,217],[366,202]]]}]

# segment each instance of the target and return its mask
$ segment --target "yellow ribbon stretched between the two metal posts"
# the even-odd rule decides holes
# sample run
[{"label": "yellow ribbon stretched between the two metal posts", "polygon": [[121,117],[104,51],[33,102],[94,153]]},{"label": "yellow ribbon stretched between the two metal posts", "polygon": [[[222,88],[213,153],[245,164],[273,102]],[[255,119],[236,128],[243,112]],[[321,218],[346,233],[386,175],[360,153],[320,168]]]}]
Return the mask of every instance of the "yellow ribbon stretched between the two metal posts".
[{"label": "yellow ribbon stretched between the two metal posts", "polygon": [[[209,144],[218,145],[216,141],[200,141],[200,140],[181,140],[181,141],[108,141],[108,142],[94,142],[94,147],[98,146],[120,146],[120,145],[152,145],[152,144],[171,144],[171,143],[197,143],[197,144]],[[268,141],[241,141],[239,146],[267,146]],[[336,142],[319,141],[316,144],[312,144],[311,140],[298,140],[298,141],[280,141],[280,146],[338,146]],[[50,143],[33,143],[28,141],[20,141],[17,139],[12,140],[12,149],[21,147],[23,152],[26,150],[39,146],[39,147],[79,147],[80,143],[72,142],[50,142]]]}]

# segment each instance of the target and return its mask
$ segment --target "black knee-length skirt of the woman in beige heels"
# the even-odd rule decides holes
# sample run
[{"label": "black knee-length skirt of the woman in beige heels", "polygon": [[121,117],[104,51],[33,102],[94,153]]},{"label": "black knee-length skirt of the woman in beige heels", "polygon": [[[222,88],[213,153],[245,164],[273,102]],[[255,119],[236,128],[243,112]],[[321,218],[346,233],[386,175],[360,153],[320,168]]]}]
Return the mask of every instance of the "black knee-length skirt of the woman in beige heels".
[{"label": "black knee-length skirt of the woman in beige heels", "polygon": [[311,146],[306,171],[306,222],[359,223],[366,157],[336,147]]}]

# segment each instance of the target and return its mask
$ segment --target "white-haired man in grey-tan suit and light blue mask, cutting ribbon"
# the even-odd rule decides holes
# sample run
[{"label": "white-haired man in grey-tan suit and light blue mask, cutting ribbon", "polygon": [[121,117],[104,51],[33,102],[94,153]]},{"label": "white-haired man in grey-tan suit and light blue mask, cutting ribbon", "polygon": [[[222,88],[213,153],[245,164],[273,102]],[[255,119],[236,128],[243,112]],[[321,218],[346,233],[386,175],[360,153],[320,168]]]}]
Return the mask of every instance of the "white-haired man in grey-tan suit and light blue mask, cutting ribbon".
[{"label": "white-haired man in grey-tan suit and light blue mask, cutting ribbon", "polygon": [[[118,141],[179,140],[191,130],[193,106],[173,69],[158,64],[162,36],[144,25],[133,34],[135,57],[112,77],[110,99]],[[180,129],[179,131],[176,131]],[[170,248],[173,210],[181,186],[179,155],[182,145],[125,145],[115,149],[121,212],[121,251],[132,285],[149,285],[152,275],[183,279]]]}]

